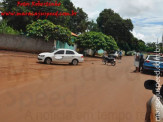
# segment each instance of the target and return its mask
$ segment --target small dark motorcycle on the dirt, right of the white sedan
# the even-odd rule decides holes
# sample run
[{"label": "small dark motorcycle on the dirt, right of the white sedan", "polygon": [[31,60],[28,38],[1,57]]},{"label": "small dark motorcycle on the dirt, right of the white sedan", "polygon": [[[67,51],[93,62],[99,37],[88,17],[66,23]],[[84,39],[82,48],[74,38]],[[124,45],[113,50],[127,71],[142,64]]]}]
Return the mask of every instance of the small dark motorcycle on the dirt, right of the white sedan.
[{"label": "small dark motorcycle on the dirt, right of the white sedan", "polygon": [[107,56],[103,56],[102,57],[102,62],[103,64],[109,64],[111,63],[112,66],[115,66],[116,65],[116,60],[114,57],[107,57]]}]

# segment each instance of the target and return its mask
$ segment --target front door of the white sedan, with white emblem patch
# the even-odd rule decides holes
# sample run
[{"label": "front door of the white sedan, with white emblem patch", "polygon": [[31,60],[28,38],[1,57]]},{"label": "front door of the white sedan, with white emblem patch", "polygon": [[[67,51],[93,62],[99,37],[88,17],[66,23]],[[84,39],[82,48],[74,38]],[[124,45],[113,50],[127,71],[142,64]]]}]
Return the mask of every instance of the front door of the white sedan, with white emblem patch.
[{"label": "front door of the white sedan, with white emblem patch", "polygon": [[65,50],[59,50],[54,53],[53,62],[64,62]]}]

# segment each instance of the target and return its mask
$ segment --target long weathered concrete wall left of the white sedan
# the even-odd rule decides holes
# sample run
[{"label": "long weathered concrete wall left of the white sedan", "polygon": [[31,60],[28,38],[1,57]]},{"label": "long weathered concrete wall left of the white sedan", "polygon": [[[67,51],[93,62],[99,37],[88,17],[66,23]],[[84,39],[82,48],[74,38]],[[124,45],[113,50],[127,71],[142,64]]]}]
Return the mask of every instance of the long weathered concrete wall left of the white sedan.
[{"label": "long weathered concrete wall left of the white sedan", "polygon": [[39,53],[49,52],[53,46],[53,41],[46,42],[25,36],[0,34],[0,49]]}]

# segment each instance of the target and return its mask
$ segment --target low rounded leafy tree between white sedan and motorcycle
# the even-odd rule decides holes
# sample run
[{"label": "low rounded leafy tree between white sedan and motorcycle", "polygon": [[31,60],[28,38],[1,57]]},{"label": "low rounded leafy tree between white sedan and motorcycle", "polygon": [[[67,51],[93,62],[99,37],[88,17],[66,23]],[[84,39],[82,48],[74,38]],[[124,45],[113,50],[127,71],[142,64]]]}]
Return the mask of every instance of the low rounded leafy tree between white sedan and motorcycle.
[{"label": "low rounded leafy tree between white sedan and motorcycle", "polygon": [[76,39],[76,43],[80,48],[83,48],[83,50],[92,49],[94,51],[93,56],[100,49],[105,51],[118,49],[114,38],[111,36],[106,36],[101,32],[87,32],[81,34]]}]

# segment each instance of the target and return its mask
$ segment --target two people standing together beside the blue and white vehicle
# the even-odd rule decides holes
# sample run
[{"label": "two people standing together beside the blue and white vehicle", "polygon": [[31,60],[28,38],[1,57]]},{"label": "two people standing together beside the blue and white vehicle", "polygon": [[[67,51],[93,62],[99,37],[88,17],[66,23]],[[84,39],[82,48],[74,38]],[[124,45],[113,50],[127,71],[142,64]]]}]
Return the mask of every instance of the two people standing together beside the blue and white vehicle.
[{"label": "two people standing together beside the blue and white vehicle", "polygon": [[135,54],[134,65],[136,67],[135,72],[140,72],[143,69],[144,55],[142,52],[137,52]]}]

